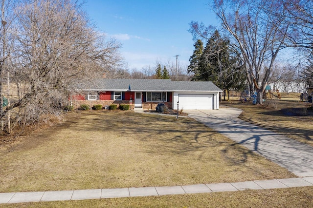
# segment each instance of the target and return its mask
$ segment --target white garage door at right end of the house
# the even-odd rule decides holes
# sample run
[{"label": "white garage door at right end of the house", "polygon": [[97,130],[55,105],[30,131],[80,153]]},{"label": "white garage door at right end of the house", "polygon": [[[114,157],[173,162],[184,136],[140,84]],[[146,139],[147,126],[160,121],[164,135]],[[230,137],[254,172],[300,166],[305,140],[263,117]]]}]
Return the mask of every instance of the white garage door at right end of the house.
[{"label": "white garage door at right end of the house", "polygon": [[179,94],[179,109],[212,110],[213,97],[210,94]]}]

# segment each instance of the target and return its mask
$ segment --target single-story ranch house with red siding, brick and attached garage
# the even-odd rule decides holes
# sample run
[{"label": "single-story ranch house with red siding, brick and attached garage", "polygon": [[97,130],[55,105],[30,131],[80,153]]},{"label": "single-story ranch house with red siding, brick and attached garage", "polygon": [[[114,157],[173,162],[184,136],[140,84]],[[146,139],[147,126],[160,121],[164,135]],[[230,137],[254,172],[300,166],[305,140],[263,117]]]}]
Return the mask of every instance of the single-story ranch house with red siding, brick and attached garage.
[{"label": "single-story ranch house with red siding, brick and attached garage", "polygon": [[88,104],[131,104],[132,109],[155,110],[162,102],[169,109],[219,109],[220,88],[210,81],[172,81],[170,79],[93,79],[78,83],[79,94],[71,95],[75,107]]}]

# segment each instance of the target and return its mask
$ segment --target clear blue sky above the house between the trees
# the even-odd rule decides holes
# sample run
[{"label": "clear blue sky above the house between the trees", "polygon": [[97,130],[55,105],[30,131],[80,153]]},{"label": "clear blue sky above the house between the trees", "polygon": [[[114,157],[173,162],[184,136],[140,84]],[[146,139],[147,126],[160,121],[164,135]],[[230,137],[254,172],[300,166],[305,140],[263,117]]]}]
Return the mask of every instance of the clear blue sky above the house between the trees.
[{"label": "clear blue sky above the house between the trees", "polygon": [[129,68],[156,60],[189,65],[194,40],[188,32],[191,21],[214,24],[209,0],[88,0],[84,8],[100,32],[122,43],[120,50]]}]

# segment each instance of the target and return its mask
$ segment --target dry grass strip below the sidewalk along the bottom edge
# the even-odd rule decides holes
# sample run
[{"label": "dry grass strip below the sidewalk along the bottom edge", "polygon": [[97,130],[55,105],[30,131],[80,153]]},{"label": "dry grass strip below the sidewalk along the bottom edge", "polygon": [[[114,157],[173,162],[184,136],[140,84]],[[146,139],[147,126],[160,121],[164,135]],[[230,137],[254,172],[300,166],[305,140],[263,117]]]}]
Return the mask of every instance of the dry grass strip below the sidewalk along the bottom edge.
[{"label": "dry grass strip below the sidewalk along the bottom edge", "polygon": [[[313,187],[245,190],[150,197],[39,202],[19,208],[312,208]],[[0,205],[15,208],[16,204]]]}]

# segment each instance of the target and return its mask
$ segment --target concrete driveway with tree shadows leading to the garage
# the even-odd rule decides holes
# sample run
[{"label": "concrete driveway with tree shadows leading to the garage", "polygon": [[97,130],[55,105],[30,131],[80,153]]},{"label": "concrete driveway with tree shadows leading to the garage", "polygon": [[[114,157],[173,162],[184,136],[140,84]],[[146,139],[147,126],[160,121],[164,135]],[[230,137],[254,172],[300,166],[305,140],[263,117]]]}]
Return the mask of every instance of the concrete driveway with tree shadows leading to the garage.
[{"label": "concrete driveway with tree shadows leading to the garage", "polygon": [[299,177],[313,176],[313,147],[238,118],[235,108],[184,110],[188,116],[224,134]]}]

